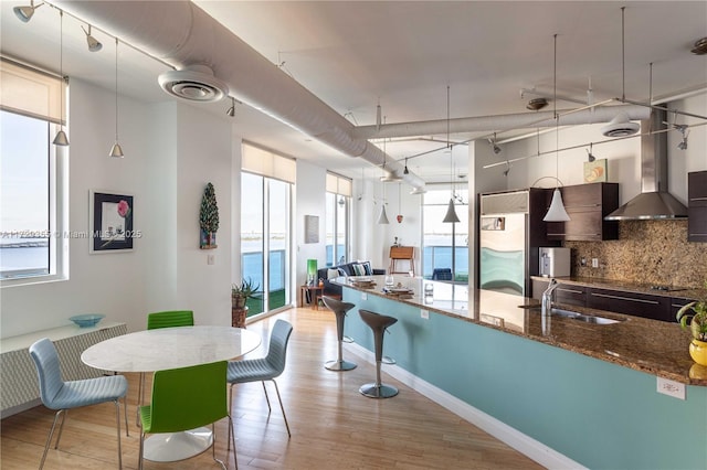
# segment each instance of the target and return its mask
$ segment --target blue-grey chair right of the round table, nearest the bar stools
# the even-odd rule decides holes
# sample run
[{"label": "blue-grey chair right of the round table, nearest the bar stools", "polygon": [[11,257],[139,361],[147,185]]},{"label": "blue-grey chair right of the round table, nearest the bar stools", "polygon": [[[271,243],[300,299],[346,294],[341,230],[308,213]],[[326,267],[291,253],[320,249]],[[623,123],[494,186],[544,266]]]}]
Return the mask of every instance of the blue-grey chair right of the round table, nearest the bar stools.
[{"label": "blue-grey chair right of the round table, nearest the bar stools", "polygon": [[283,410],[283,418],[285,419],[285,426],[287,427],[287,436],[292,437],[287,416],[285,415],[285,407],[283,406],[283,399],[279,396],[277,382],[275,382],[275,377],[278,377],[285,370],[287,343],[289,342],[291,333],[292,324],[285,320],[277,320],[270,335],[267,355],[260,359],[246,359],[229,362],[226,381],[231,384],[229,391],[229,406],[233,404],[233,385],[244,384],[246,382],[262,382],[263,391],[265,391],[265,399],[267,400],[267,409],[270,412],[272,412],[272,407],[270,405],[270,398],[267,397],[265,381],[272,381],[273,384],[275,384],[275,392],[277,393],[279,408]]}]

